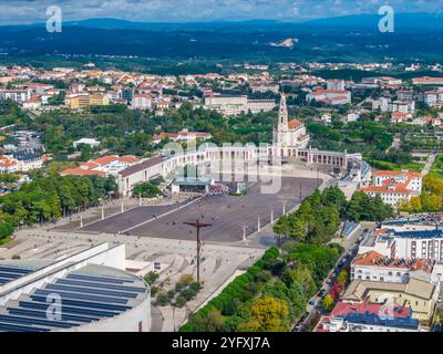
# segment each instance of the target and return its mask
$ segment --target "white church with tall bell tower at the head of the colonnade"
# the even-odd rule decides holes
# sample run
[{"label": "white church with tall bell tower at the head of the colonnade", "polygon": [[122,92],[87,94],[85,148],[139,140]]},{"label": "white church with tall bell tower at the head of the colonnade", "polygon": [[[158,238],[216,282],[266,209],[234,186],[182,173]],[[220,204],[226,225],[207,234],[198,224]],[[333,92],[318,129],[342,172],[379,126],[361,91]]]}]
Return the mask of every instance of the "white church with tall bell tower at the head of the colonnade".
[{"label": "white church with tall bell tower at the head of the colonnade", "polygon": [[307,148],[309,135],[305,125],[298,119],[288,118],[285,94],[281,94],[278,111],[278,124],[272,132],[272,155],[279,157],[298,157],[299,149]]}]

